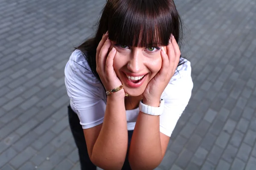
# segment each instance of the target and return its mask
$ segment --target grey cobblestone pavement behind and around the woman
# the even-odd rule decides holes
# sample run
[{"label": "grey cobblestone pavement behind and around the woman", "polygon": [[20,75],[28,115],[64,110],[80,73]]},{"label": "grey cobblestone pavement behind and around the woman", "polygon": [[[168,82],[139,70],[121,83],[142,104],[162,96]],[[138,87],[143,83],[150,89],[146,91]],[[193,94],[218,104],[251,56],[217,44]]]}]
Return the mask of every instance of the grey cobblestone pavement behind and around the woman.
[{"label": "grey cobblestone pavement behind and around the woman", "polygon": [[[79,170],[64,66],[104,3],[0,1],[1,170]],[[256,1],[176,4],[194,89],[157,170],[255,170]]]}]

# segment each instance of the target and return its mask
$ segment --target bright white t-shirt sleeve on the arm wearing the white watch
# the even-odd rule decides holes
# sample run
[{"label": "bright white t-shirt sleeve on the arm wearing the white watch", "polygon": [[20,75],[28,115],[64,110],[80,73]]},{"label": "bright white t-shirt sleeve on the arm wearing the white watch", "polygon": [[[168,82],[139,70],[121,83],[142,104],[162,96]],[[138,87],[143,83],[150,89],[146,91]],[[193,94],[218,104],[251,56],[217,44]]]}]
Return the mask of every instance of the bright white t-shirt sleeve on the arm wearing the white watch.
[{"label": "bright white t-shirt sleeve on the arm wearing the white watch", "polygon": [[171,136],[178,119],[188,105],[193,82],[190,62],[180,65],[162,94],[165,100],[164,111],[160,116],[160,132]]}]

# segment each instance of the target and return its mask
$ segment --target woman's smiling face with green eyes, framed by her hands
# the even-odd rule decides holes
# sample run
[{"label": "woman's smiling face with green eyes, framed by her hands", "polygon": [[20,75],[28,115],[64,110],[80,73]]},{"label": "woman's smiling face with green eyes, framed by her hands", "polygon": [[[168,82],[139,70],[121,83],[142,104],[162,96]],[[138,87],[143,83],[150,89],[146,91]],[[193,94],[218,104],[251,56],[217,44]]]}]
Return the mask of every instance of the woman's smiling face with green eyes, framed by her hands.
[{"label": "woman's smiling face with green eyes, framed by her hands", "polygon": [[[140,96],[162,66],[161,47],[129,47],[111,42],[115,47],[113,68],[129,96]],[[166,51],[166,47],[164,47]]]}]

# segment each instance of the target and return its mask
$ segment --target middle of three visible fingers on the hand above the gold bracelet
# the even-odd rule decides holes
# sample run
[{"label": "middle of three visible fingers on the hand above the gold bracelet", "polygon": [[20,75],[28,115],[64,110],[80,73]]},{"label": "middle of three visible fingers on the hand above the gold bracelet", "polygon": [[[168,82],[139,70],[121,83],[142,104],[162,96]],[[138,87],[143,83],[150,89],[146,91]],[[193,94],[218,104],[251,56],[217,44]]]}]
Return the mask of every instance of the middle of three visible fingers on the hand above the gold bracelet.
[{"label": "middle of three visible fingers on the hand above the gold bracelet", "polygon": [[99,52],[99,68],[105,71],[105,63],[108,57],[108,50],[111,46],[111,40],[106,40]]}]

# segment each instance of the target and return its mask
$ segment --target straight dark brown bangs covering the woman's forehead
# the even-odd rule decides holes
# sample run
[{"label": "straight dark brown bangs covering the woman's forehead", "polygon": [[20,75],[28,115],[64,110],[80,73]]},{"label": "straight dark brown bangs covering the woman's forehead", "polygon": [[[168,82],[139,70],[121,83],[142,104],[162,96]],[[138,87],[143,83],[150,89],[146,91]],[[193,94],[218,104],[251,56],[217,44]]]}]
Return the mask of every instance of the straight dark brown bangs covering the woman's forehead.
[{"label": "straight dark brown bangs covering the woman's forehead", "polygon": [[[160,2],[161,1],[161,2]],[[109,39],[136,47],[166,46],[173,34],[168,0],[117,0],[108,15]],[[118,4],[119,3],[119,4]],[[117,8],[118,6],[118,8]]]}]

